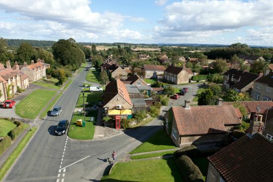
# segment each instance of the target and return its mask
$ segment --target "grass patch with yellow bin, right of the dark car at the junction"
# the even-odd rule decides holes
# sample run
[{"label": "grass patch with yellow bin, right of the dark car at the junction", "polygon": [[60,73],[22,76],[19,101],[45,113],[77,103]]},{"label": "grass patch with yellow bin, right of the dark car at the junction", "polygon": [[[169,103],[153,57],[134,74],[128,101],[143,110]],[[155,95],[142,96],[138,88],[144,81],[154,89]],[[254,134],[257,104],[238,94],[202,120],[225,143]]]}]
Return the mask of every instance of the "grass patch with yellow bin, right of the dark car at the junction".
[{"label": "grass patch with yellow bin, right of the dark car at the junction", "polygon": [[80,140],[92,140],[95,132],[95,124],[90,121],[90,117],[94,117],[94,121],[97,120],[97,111],[88,112],[85,117],[85,127],[77,126],[76,121],[82,120],[84,121],[84,117],[78,116],[77,113],[74,113],[72,116],[72,120],[70,122],[68,136],[73,139]]}]

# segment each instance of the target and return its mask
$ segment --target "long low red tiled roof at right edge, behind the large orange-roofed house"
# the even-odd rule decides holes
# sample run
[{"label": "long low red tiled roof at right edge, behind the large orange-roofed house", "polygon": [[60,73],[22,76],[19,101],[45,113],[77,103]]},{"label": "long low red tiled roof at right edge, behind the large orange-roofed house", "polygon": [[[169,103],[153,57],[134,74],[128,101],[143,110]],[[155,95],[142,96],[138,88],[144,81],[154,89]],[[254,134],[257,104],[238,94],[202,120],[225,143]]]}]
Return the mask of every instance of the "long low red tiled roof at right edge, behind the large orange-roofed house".
[{"label": "long low red tiled roof at right edge, behind the large orange-roofed house", "polygon": [[[223,105],[233,105],[236,102],[223,102]],[[247,109],[248,113],[264,114],[273,107],[273,101],[242,101],[238,102]]]}]

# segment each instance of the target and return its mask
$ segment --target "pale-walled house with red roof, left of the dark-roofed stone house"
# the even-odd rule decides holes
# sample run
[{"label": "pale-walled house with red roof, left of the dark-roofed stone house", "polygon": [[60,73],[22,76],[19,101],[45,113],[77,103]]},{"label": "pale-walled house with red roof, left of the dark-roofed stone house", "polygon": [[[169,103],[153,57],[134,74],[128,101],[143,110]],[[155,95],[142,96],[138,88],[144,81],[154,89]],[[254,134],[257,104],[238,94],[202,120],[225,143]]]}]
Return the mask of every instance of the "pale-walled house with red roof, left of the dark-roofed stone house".
[{"label": "pale-walled house with red roof, left of the dark-roofed stone house", "polygon": [[166,67],[163,65],[144,64],[143,69],[145,72],[144,78],[157,78],[164,75]]}]

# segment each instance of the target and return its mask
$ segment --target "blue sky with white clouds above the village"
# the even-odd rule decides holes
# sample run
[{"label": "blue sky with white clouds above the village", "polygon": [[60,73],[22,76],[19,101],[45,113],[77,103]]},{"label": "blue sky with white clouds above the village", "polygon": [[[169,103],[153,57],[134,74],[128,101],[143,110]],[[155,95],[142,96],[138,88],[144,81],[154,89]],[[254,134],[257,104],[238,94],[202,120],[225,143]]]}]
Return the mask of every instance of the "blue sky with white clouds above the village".
[{"label": "blue sky with white clouds above the village", "polygon": [[273,0],[0,0],[0,37],[273,46]]}]

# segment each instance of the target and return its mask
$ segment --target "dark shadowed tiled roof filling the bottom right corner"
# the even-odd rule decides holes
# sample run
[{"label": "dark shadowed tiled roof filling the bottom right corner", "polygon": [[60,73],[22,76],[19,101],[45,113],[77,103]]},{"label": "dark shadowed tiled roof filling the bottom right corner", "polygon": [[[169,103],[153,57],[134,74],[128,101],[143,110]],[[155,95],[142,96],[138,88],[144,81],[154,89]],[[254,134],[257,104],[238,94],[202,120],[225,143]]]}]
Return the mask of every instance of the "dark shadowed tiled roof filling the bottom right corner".
[{"label": "dark shadowed tiled roof filling the bottom right corner", "polygon": [[273,142],[256,133],[239,138],[208,160],[226,182],[272,182],[272,154]]}]

